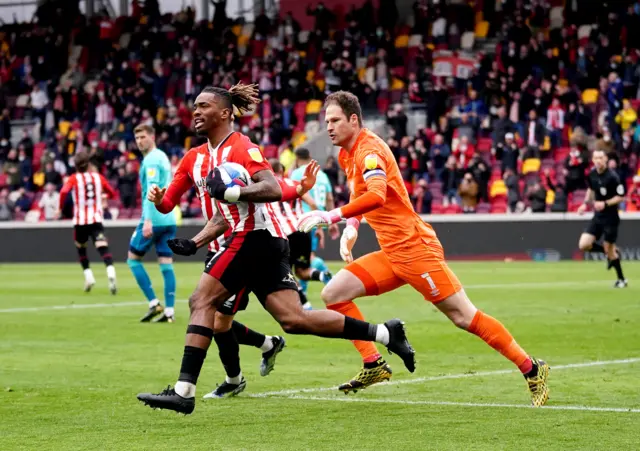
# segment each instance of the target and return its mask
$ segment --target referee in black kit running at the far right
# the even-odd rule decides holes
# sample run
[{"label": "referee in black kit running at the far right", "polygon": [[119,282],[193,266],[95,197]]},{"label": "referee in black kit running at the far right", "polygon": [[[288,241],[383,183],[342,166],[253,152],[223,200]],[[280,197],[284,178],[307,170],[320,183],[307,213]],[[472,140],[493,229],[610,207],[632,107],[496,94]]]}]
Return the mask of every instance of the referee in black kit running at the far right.
[{"label": "referee in black kit running at the far right", "polygon": [[[594,168],[587,177],[587,195],[578,208],[578,214],[584,214],[587,205],[593,204],[595,213],[589,227],[580,235],[580,250],[584,252],[603,252],[607,256],[607,269],[615,268],[618,280],[614,288],[625,288],[627,280],[622,274],[620,253],[616,247],[620,216],[618,204],[624,200],[624,185],[615,171],[607,167],[607,154],[604,150],[593,151]],[[603,244],[596,241],[603,238]]]}]

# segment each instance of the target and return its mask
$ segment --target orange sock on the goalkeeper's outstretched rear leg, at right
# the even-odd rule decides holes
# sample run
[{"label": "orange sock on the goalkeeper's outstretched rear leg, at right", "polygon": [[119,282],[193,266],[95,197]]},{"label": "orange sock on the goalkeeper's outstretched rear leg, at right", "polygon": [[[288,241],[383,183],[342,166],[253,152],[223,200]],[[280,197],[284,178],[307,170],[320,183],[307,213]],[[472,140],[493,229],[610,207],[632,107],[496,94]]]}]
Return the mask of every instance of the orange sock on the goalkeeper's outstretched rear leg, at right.
[{"label": "orange sock on the goalkeeper's outstretched rear leg, at right", "polygon": [[529,355],[497,319],[478,310],[467,331],[482,338],[485,343],[511,360],[523,374],[529,373],[533,368]]}]

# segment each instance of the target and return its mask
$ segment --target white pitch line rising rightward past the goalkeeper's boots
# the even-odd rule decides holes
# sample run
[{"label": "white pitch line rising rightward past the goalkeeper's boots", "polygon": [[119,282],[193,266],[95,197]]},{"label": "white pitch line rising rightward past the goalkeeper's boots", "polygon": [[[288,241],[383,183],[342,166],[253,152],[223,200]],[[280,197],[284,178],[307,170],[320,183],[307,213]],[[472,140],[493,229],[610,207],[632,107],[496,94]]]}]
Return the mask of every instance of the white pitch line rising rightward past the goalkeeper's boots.
[{"label": "white pitch line rising rightward past the goalkeeper's boots", "polygon": [[[605,366],[605,365],[626,365],[629,363],[637,363],[640,362],[640,357],[634,357],[629,359],[618,359],[618,360],[596,360],[593,362],[583,362],[583,363],[569,363],[565,365],[551,365],[551,370],[565,370],[571,368],[588,368],[592,366]],[[391,382],[383,382],[380,384],[372,385],[367,390],[371,390],[372,388],[382,388],[388,387],[390,385],[406,385],[406,384],[419,384],[421,382],[432,382],[432,381],[442,381],[448,379],[465,379],[468,377],[483,377],[483,376],[495,376],[499,374],[510,374],[516,373],[517,370],[497,370],[497,371],[478,371],[475,373],[458,373],[458,374],[443,374],[441,376],[427,376],[427,377],[417,377],[414,379],[401,379],[398,381]],[[251,396],[256,398],[265,398],[268,396],[287,396],[287,395],[295,395],[298,393],[320,393],[327,391],[335,391],[337,387],[318,387],[318,388],[300,388],[300,389],[290,389],[290,390],[277,390],[277,391],[269,391],[263,393],[255,393]]]}]

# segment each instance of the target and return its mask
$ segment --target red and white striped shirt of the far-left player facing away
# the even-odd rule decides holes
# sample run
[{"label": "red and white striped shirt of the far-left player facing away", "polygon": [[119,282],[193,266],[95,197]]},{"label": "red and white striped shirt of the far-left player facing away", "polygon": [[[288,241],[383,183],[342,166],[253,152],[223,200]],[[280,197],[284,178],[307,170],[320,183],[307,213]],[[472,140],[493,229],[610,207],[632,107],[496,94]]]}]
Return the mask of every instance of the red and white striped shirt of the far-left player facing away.
[{"label": "red and white striped shirt of the far-left player facing away", "polygon": [[73,197],[73,224],[89,225],[102,222],[102,194],[111,199],[116,192],[107,179],[97,172],[76,172],[72,174],[60,190],[59,208],[62,210],[67,194]]}]

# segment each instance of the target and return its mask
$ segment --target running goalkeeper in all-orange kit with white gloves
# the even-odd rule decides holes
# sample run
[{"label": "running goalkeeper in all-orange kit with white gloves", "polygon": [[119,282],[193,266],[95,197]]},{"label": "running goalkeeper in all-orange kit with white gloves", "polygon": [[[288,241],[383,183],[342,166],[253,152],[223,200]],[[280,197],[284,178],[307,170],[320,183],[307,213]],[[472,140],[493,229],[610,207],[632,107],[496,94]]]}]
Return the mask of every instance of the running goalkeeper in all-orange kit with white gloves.
[{"label": "running goalkeeper in all-orange kit with white gloves", "polygon": [[[444,259],[436,233],[425,223],[409,200],[398,165],[386,143],[362,127],[356,96],[340,91],[325,101],[329,137],[340,146],[351,201],[329,212],[304,215],[298,229],[307,232],[346,220],[340,254],[349,264],[325,286],[322,299],[327,308],[363,319],[353,299],[383,294],[409,284],[432,302],[456,326],[485,341],[511,360],[524,375],[534,406],[547,402],[549,366],[527,354],[495,318],[478,310],[469,300],[456,275]],[[351,249],[361,218],[373,228],[380,251],[353,260]],[[364,367],[339,389],[355,392],[391,378],[391,369],[374,343],[354,341]]]}]

